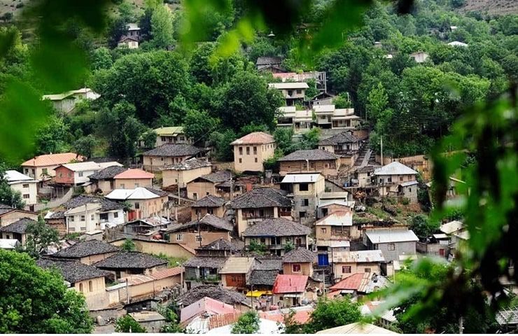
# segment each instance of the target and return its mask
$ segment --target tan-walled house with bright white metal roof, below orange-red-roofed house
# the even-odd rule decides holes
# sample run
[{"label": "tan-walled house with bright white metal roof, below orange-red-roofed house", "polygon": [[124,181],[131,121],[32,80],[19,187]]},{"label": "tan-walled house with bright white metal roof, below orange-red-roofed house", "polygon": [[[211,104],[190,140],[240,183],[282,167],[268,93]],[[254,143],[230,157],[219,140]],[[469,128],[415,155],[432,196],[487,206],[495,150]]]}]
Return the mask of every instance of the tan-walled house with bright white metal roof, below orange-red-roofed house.
[{"label": "tan-walled house with bright white metal roof, below orange-red-roofed house", "polygon": [[118,202],[130,204],[127,220],[162,216],[167,214],[167,202],[169,193],[165,191],[138,187],[134,189],[115,189],[106,198]]}]

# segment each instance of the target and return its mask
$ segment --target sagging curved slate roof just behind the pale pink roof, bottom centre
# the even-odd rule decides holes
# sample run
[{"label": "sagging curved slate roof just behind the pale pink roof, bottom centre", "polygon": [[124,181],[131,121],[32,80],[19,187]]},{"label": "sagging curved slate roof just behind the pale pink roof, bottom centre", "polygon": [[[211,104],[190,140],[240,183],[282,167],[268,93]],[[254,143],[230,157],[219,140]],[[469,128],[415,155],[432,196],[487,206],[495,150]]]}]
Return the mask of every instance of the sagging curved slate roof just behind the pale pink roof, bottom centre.
[{"label": "sagging curved slate roof just behind the pale pink roof, bottom centre", "polygon": [[193,304],[204,297],[210,297],[211,299],[232,305],[241,302],[246,303],[246,297],[243,294],[216,285],[197,286],[188,290],[176,301],[181,302],[183,307],[187,307],[189,304]]}]

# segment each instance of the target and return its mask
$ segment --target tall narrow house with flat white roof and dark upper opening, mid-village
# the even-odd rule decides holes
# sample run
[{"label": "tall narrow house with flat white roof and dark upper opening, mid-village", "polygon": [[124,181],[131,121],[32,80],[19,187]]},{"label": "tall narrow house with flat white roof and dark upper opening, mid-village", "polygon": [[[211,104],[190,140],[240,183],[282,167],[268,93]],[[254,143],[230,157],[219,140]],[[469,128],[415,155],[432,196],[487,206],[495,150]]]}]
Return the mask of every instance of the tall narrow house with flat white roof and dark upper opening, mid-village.
[{"label": "tall narrow house with flat white roof and dark upper opening, mid-village", "polygon": [[313,223],[316,219],[318,197],[325,192],[325,179],[321,174],[286,174],[281,189],[293,197],[293,218],[300,223]]}]

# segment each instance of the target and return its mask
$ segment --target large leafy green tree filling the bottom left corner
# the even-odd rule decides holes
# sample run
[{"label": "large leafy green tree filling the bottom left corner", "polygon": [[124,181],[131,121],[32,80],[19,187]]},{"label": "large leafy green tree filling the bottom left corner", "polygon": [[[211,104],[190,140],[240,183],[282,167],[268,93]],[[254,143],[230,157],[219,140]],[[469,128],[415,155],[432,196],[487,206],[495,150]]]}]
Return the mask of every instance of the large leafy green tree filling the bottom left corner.
[{"label": "large leafy green tree filling the bottom left corner", "polygon": [[43,270],[25,253],[0,250],[0,332],[90,333],[85,297],[67,290],[56,271]]}]

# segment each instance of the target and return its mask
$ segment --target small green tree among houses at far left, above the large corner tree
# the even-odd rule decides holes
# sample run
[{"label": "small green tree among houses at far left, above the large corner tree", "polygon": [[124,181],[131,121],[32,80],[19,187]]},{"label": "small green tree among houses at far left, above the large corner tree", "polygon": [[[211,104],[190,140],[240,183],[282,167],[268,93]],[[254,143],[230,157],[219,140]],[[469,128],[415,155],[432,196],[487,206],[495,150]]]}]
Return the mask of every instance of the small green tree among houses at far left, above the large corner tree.
[{"label": "small green tree among houses at far left, above the large corner tree", "polygon": [[50,244],[59,241],[57,230],[47,225],[41,216],[38,217],[38,221],[35,223],[27,225],[25,233],[27,240],[25,241],[25,246],[22,246],[23,251],[36,259],[39,258],[41,253],[45,252]]}]

